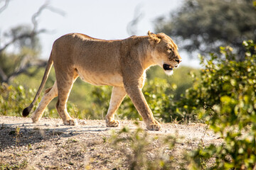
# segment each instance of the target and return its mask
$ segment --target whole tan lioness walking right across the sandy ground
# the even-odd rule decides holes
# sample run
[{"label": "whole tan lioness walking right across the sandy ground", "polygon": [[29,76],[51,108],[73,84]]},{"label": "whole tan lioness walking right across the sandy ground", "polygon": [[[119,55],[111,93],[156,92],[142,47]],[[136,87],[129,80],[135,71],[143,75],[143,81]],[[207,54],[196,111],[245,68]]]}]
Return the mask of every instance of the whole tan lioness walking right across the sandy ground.
[{"label": "whole tan lioness walking right across the sandy ground", "polygon": [[32,115],[33,123],[41,119],[48,103],[58,96],[55,107],[63,123],[77,124],[68,114],[66,103],[73,83],[79,76],[90,84],[113,86],[110,108],[105,117],[108,127],[119,125],[119,121],[114,120],[114,113],[128,94],[142,115],[146,128],[160,130],[161,125],[154,119],[142,94],[146,69],[158,64],[166,74],[172,74],[180,62],[177,45],[164,33],[148,32],[146,36],[132,36],[124,40],[100,40],[80,33],[63,35],[53,43],[41,85],[31,105],[23,110],[23,117],[29,114],[36,103],[54,64],[56,81],[46,89]]}]

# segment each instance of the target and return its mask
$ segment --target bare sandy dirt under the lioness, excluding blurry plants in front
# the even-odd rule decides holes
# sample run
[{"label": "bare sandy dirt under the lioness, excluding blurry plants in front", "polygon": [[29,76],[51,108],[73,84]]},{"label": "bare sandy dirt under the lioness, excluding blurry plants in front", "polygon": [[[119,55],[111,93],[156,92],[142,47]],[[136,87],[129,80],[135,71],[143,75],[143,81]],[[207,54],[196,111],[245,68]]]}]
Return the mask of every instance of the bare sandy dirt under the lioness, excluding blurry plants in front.
[{"label": "bare sandy dirt under the lioness, excluding blurry plants in front", "polygon": [[[127,169],[124,153],[108,142],[113,130],[127,126],[136,130],[134,121],[121,120],[119,128],[107,128],[104,120],[78,120],[79,125],[63,125],[60,119],[43,118],[31,123],[31,118],[0,116],[0,168],[17,169]],[[144,123],[140,122],[144,130]],[[220,144],[206,125],[163,124],[161,131],[146,131],[149,137],[182,137],[176,152],[198,146],[203,137],[205,145]],[[152,153],[159,148],[152,144]]]}]

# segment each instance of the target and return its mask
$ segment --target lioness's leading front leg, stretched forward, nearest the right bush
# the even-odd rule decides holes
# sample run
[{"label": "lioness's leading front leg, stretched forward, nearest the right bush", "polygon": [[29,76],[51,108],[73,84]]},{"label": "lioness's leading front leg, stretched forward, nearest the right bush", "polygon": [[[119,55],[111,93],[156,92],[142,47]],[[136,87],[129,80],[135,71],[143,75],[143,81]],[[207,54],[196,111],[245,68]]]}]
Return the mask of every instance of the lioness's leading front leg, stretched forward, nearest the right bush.
[{"label": "lioness's leading front leg, stretched forward, nearest the right bush", "polygon": [[161,130],[161,124],[154,118],[154,115],[146,103],[146,99],[142,93],[142,90],[139,89],[139,86],[136,85],[126,85],[125,90],[127,91],[128,96],[131,98],[132,103],[134,103],[135,108],[146,123],[146,128],[148,130]]}]

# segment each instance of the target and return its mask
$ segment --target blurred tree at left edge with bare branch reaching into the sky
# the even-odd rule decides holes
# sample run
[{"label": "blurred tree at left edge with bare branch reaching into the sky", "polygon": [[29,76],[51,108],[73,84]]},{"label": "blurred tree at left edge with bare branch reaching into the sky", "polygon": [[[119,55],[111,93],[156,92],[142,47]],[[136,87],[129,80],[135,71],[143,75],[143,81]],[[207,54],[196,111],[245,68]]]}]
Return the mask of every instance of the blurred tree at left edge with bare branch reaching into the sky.
[{"label": "blurred tree at left edge with bare branch reaching into the sky", "polygon": [[[4,11],[8,6],[9,0],[6,0],[4,6],[1,6],[0,11]],[[28,73],[28,69],[31,67],[37,67],[39,69],[40,67],[46,66],[46,61],[38,60],[38,56],[41,53],[41,43],[38,35],[47,32],[46,29],[38,27],[38,16],[41,16],[42,11],[46,9],[54,13],[59,13],[60,15],[65,14],[63,11],[50,6],[49,2],[46,1],[31,16],[31,24],[21,23],[0,33],[1,83],[9,84],[19,74],[26,74],[33,77],[37,69],[33,73]]]}]

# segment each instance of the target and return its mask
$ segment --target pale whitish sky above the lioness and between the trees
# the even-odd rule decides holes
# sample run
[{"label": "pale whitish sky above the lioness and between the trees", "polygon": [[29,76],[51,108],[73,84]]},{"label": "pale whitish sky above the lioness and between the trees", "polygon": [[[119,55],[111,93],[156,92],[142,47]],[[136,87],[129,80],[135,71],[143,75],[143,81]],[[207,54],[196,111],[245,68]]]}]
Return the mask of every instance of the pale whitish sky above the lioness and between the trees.
[{"label": "pale whitish sky above the lioness and between the trees", "polygon": [[[94,38],[123,39],[129,37],[127,24],[134,18],[139,7],[142,18],[137,25],[137,35],[154,32],[154,20],[159,16],[169,16],[172,10],[181,6],[183,0],[52,0],[50,6],[65,12],[65,16],[45,10],[38,18],[38,28],[50,30],[50,34],[40,35],[42,58],[48,58],[54,40],[66,33],[83,33]],[[31,25],[31,16],[46,1],[11,0],[8,8],[0,13],[0,35],[11,27],[20,24]],[[3,6],[3,2],[0,2]],[[190,56],[182,52],[185,65],[198,67],[198,61],[189,60]]]}]

